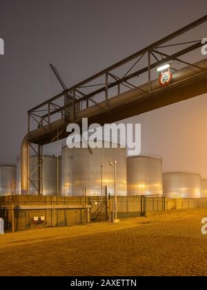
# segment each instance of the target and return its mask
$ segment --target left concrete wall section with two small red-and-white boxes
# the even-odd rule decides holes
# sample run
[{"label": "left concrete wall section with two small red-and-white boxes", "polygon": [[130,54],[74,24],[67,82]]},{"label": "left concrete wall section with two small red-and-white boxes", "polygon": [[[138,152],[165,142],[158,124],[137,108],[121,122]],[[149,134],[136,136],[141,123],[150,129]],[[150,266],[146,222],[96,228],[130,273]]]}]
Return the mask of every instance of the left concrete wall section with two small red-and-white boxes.
[{"label": "left concrete wall section with two small red-and-white boxes", "polygon": [[[76,224],[85,224],[85,209],[38,209],[38,206],[58,206],[70,205],[79,206],[85,205],[83,197],[50,197],[37,195],[14,195],[10,203],[6,201],[7,197],[0,197],[0,217],[6,222],[6,228],[12,228],[12,214],[10,211],[5,211],[6,204],[13,204],[14,207],[14,230],[21,231],[24,229],[34,229],[46,226],[72,226]],[[86,206],[94,204],[86,199]],[[34,206],[36,209],[19,209],[19,206]],[[52,207],[50,206],[50,207]],[[88,212],[88,209],[87,209]],[[34,217],[37,217],[38,222],[34,222]],[[44,220],[41,220],[44,217]]]}]

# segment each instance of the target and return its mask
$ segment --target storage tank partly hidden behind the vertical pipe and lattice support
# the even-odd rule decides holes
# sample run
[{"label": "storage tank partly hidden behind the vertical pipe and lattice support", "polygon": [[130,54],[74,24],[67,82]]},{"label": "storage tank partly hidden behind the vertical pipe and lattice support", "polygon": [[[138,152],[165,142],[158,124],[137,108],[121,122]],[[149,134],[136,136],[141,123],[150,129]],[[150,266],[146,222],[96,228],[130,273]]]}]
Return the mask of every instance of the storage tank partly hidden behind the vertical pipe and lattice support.
[{"label": "storage tank partly hidden behind the vertical pipe and lattice support", "polygon": [[[20,159],[17,157],[17,189],[21,194],[21,166]],[[38,172],[35,170],[38,165],[37,156],[30,156],[30,173],[34,171],[30,177],[34,185],[37,187]],[[61,194],[61,157],[59,157],[57,178],[57,157],[55,155],[43,155],[43,195],[57,195],[57,182],[59,184],[59,195]],[[30,182],[30,195],[37,195],[37,189]]]}]

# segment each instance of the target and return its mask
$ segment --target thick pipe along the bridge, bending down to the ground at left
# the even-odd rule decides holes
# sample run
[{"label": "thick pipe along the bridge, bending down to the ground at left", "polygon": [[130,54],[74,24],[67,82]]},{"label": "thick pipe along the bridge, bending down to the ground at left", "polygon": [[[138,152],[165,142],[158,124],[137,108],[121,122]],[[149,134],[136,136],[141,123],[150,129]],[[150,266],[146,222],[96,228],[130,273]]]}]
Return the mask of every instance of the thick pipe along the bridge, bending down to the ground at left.
[{"label": "thick pipe along the bridge, bending down to the ground at left", "polygon": [[[203,68],[203,70],[201,68]],[[173,84],[177,84],[181,81],[185,81],[185,79],[188,79],[190,77],[194,77],[196,75],[199,75],[201,73],[206,73],[207,70],[207,59],[204,59],[202,61],[199,61],[194,64],[194,66],[187,66],[186,68],[182,68],[181,70],[177,70],[173,72],[173,79],[172,79],[172,86]],[[171,86],[169,86],[170,88]],[[160,87],[158,79],[155,79],[151,82],[151,88],[152,91],[150,94],[153,93],[159,93],[163,92],[163,88]],[[144,99],[146,93],[144,91],[148,91],[148,84],[143,84],[142,86],[139,86],[139,89],[132,89],[128,90],[126,93],[122,93],[121,95],[117,95],[115,97],[112,97],[108,99],[108,104],[110,110],[113,110],[117,108],[118,106],[125,106],[128,102],[133,102],[137,99]],[[207,91],[207,89],[206,89]],[[167,90],[165,91],[166,94]],[[177,94],[177,91],[175,89],[175,94]],[[102,101],[99,103],[100,106],[94,105],[90,106],[89,108],[86,108],[84,110],[79,110],[76,114],[76,120],[81,120],[82,118],[90,117],[99,115],[100,113],[103,113],[103,108],[106,108],[106,101]],[[106,109],[108,110],[108,109]],[[150,110],[150,109],[149,109]],[[145,110],[145,112],[148,110]],[[138,115],[139,113],[133,115]],[[128,112],[128,117],[132,117],[132,113],[130,115],[130,112]],[[114,122],[118,121],[118,119],[115,119]],[[69,122],[73,122],[72,117],[70,117]],[[28,172],[29,172],[29,146],[30,146],[30,140],[35,138],[41,138],[46,135],[46,132],[48,133],[55,133],[57,131],[57,128],[64,128],[66,126],[65,119],[59,119],[55,122],[52,122],[51,124],[37,128],[36,130],[30,132],[30,134],[26,135],[23,138],[23,142],[21,144],[21,193],[22,194],[28,194]]]}]

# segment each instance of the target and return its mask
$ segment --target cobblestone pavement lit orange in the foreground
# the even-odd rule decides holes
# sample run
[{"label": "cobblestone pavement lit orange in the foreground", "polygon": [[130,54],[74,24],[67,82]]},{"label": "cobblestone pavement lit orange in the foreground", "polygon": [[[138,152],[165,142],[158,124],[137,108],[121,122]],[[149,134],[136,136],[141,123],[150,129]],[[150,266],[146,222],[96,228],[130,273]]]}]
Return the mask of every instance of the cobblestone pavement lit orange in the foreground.
[{"label": "cobblestone pavement lit orange in the foreground", "polygon": [[1,276],[206,276],[207,210],[8,233]]}]

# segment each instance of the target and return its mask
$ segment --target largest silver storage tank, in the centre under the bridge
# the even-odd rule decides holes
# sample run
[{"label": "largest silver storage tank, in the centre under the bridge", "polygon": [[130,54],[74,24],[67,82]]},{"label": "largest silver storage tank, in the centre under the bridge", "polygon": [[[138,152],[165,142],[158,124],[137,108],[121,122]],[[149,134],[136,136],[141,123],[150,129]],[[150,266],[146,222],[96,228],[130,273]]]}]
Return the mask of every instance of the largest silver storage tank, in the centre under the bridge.
[{"label": "largest silver storage tank, in the centre under the bridge", "polygon": [[[62,148],[62,195],[83,195],[86,187],[88,196],[105,195],[105,186],[108,193],[115,193],[115,165],[117,161],[117,195],[126,195],[126,148]],[[101,167],[102,164],[102,167]],[[102,177],[101,177],[102,172]],[[102,191],[101,191],[102,184]]]}]

